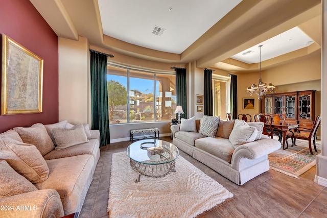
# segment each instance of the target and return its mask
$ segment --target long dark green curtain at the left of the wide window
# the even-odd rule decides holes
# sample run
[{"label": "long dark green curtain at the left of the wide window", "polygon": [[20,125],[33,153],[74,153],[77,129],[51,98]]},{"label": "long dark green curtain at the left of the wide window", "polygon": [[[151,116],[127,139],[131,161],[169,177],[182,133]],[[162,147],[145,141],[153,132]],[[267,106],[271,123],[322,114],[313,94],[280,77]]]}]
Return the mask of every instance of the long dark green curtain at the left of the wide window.
[{"label": "long dark green curtain at the left of the wide window", "polygon": [[107,55],[90,50],[91,53],[91,129],[100,131],[100,146],[110,143]]}]

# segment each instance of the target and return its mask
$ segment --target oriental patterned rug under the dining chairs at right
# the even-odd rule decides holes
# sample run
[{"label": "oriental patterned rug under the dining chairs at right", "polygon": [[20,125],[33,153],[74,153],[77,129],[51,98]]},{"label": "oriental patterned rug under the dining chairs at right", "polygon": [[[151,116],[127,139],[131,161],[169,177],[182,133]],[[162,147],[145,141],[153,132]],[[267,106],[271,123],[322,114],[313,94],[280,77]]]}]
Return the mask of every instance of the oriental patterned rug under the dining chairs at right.
[{"label": "oriental patterned rug under the dining chairs at right", "polygon": [[320,153],[321,149],[320,141],[316,141],[318,152],[315,152],[312,142],[313,155],[310,154],[308,141],[296,139],[296,144],[297,146],[291,147],[292,141],[289,139],[288,149],[283,150],[283,148],[281,148],[269,154],[270,168],[288,176],[298,178],[298,176],[316,165],[316,155]]}]

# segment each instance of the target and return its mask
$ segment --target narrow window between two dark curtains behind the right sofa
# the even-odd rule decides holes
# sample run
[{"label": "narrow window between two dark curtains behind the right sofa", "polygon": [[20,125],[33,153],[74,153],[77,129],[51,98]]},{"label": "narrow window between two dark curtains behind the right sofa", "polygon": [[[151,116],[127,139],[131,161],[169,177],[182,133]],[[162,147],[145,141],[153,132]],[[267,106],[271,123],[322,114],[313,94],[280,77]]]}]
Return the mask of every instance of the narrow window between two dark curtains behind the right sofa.
[{"label": "narrow window between two dark curtains behind the right sofa", "polygon": [[229,86],[230,79],[223,76],[213,76],[213,102],[214,102],[214,116],[220,116],[225,119],[226,113],[230,105]]}]

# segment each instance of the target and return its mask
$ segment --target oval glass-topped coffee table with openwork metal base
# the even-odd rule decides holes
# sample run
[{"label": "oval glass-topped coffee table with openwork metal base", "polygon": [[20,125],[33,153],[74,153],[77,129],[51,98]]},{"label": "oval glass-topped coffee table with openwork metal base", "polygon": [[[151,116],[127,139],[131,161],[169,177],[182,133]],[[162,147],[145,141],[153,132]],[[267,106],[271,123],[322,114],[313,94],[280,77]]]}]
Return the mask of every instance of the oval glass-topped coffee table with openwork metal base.
[{"label": "oval glass-topped coffee table with openwork metal base", "polygon": [[[161,149],[160,154],[151,155],[150,149]],[[175,160],[179,155],[174,144],[159,139],[145,139],[133,142],[127,148],[131,167],[138,173],[135,182],[139,182],[141,175],[148,177],[162,177],[175,171]]]}]

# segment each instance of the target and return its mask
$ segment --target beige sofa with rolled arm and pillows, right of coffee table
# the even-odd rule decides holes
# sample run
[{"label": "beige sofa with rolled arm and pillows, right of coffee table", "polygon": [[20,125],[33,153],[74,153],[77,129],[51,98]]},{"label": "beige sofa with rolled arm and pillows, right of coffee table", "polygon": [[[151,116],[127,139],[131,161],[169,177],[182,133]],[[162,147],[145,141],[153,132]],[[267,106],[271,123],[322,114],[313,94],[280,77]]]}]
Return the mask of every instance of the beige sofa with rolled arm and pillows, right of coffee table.
[{"label": "beige sofa with rolled arm and pillows, right of coffee table", "polygon": [[281,148],[278,140],[262,134],[263,125],[204,116],[201,120],[195,117],[182,120],[181,125],[173,125],[171,130],[173,144],[178,149],[243,185],[268,171],[268,154]]}]

